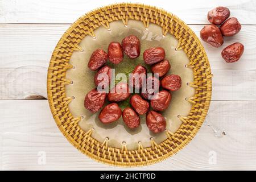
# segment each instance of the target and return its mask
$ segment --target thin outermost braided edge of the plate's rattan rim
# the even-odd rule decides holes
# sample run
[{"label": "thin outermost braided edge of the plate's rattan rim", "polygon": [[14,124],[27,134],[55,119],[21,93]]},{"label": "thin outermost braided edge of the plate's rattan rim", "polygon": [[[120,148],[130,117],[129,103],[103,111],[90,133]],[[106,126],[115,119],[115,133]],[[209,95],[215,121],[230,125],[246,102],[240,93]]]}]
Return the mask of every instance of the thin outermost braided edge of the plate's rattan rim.
[{"label": "thin outermost braided edge of the plate's rattan rim", "polygon": [[[54,65],[56,63],[56,55],[58,54],[58,51],[59,49],[61,49],[62,47],[62,44],[63,42],[65,42],[65,40],[67,40],[69,34],[71,34],[71,32],[77,27],[77,25],[79,25],[82,21],[84,21],[86,18],[92,16],[93,14],[97,13],[98,11],[101,11],[101,10],[106,10],[106,9],[110,9],[112,7],[117,7],[117,6],[137,6],[137,7],[141,7],[141,8],[144,8],[144,9],[150,9],[150,10],[158,10],[160,11],[161,14],[163,15],[166,15],[166,16],[170,16],[172,19],[175,19],[177,20],[177,22],[179,22],[184,28],[185,30],[187,30],[189,32],[189,34],[195,39],[195,42],[200,46],[200,51],[203,52],[203,55],[205,57],[205,61],[206,61],[206,64],[208,65],[208,72],[210,73],[210,66],[209,66],[209,61],[208,61],[208,58],[207,58],[207,55],[205,53],[205,50],[204,50],[204,47],[201,45],[201,42],[200,40],[197,38],[197,36],[195,35],[195,33],[191,30],[191,28],[189,28],[182,20],[180,20],[179,18],[177,18],[176,15],[174,14],[171,14],[171,13],[168,13],[168,11],[166,10],[163,10],[163,9],[159,9],[158,7],[155,7],[155,6],[150,6],[150,5],[144,5],[142,3],[114,3],[112,5],[108,5],[108,6],[104,6],[104,7],[98,7],[97,9],[94,9],[92,11],[89,11],[88,13],[86,13],[85,15],[82,15],[79,19],[77,19],[69,28],[67,31],[64,32],[63,36],[61,36],[59,42],[57,43],[57,46],[55,47],[53,53],[52,53],[52,57],[51,57],[51,61],[49,63],[49,69],[48,69],[48,75],[47,75],[47,94],[48,94],[48,101],[49,101],[49,106],[50,106],[50,109],[51,109],[51,112],[53,114],[53,117],[55,118],[55,121],[57,123],[57,121],[59,122],[59,118],[56,117],[56,109],[54,107],[54,104],[53,104],[53,94],[52,94],[52,87],[49,86],[51,85],[51,82],[52,82],[52,73],[53,73],[53,69],[54,68]],[[211,75],[211,74],[208,74],[208,75]],[[211,92],[212,92],[212,85],[211,85],[211,78],[209,76],[209,80],[210,80],[210,84],[207,85],[207,89],[209,90],[209,95],[208,95],[208,100],[205,100],[205,107],[204,107],[204,110],[206,111],[206,113],[208,112],[208,109],[209,109],[209,104],[210,104],[210,97],[211,97]],[[197,131],[200,129],[203,121],[205,119],[205,115],[201,115],[201,118],[200,118],[200,122],[198,122],[197,124],[197,127],[193,130],[193,133],[197,133]],[[60,129],[60,126],[58,126],[59,129]],[[71,137],[71,136],[68,136],[65,131],[61,130],[61,133],[64,134],[64,136],[69,140],[70,143],[73,144],[74,147],[78,148],[79,150],[80,149],[80,146],[77,146],[77,143],[74,143],[74,139]],[[82,151],[84,154],[88,155],[90,158],[98,161],[98,162],[102,162],[102,163],[106,163],[106,164],[111,164],[111,165],[114,165],[114,166],[119,166],[119,167],[138,167],[138,166],[144,166],[144,165],[147,165],[147,164],[153,164],[153,163],[156,163],[156,162],[160,162],[162,161],[163,159],[166,159],[168,158],[169,156],[173,155],[173,154],[176,154],[179,150],[181,150],[183,147],[185,147],[185,145],[190,142],[192,140],[192,138],[194,137],[195,135],[192,135],[191,137],[188,137],[186,138],[184,141],[182,141],[178,147],[175,148],[175,151],[172,151],[167,153],[166,155],[163,155],[163,156],[159,156],[158,158],[156,159],[150,159],[150,160],[147,160],[146,162],[134,162],[134,163],[123,163],[123,162],[112,162],[112,161],[109,161],[109,160],[104,160],[102,158],[99,158],[98,156],[96,155],[92,155],[90,152],[88,151]],[[109,147],[109,148],[112,148],[112,147]],[[148,147],[148,148],[151,148],[151,147]],[[115,149],[119,149],[119,148],[114,148],[113,150]],[[147,148],[143,148],[143,150]],[[121,149],[119,149],[121,150]],[[123,150],[123,148],[122,148]],[[138,151],[138,150],[136,150]],[[131,151],[133,152],[133,151]]]}]

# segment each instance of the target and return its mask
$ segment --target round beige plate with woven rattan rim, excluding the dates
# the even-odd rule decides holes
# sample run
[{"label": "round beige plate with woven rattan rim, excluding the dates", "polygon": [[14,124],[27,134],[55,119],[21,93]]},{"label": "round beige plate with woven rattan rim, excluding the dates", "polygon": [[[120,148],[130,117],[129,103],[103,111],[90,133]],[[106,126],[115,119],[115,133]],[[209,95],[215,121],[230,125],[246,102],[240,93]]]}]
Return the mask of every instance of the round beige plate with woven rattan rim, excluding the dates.
[{"label": "round beige plate with woven rattan rim, excluding the dates", "polygon": [[[160,134],[147,129],[144,115],[141,126],[130,130],[122,118],[102,125],[99,112],[84,108],[85,94],[95,87],[95,72],[87,67],[90,55],[97,48],[107,51],[110,42],[129,35],[141,40],[141,55],[135,60],[125,56],[112,68],[130,73],[135,65],[144,65],[145,49],[163,47],[169,73],[182,79],[181,89],[172,92],[171,105],[162,113],[167,128]],[[209,109],[212,74],[200,40],[177,16],[152,6],[118,3],[81,16],[64,33],[52,53],[47,93],[57,126],[82,153],[113,166],[146,166],[176,154],[195,137]]]}]

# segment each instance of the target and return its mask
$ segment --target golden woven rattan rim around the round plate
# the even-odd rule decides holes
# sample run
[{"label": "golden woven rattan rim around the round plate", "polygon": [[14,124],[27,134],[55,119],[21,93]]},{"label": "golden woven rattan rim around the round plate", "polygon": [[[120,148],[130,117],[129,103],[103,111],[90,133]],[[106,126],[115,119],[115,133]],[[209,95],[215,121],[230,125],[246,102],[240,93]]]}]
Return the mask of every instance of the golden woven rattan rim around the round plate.
[{"label": "golden woven rattan rim around the round plate", "polygon": [[[171,34],[179,41],[176,49],[184,50],[189,59],[187,67],[193,70],[193,81],[188,85],[195,88],[195,95],[187,98],[192,105],[191,111],[188,115],[179,115],[182,122],[179,129],[175,133],[166,130],[167,139],[161,143],[151,138],[150,147],[143,147],[143,144],[138,142],[137,150],[127,149],[126,143],[122,143],[119,148],[109,146],[108,138],[104,142],[99,142],[92,137],[94,129],[82,130],[79,126],[82,117],[73,117],[69,110],[73,98],[67,97],[65,92],[65,85],[72,84],[72,81],[66,78],[68,69],[73,68],[69,60],[75,51],[82,51],[82,47],[79,46],[81,40],[86,36],[96,36],[94,31],[98,27],[108,29],[111,22],[120,20],[125,25],[129,20],[138,20],[143,22],[145,28],[151,23],[162,27],[163,36]],[[98,162],[121,167],[137,167],[160,162],[176,154],[195,137],[209,109],[212,74],[200,40],[177,16],[156,7],[119,3],[91,11],[68,28],[51,57],[47,93],[56,124],[74,147]]]}]

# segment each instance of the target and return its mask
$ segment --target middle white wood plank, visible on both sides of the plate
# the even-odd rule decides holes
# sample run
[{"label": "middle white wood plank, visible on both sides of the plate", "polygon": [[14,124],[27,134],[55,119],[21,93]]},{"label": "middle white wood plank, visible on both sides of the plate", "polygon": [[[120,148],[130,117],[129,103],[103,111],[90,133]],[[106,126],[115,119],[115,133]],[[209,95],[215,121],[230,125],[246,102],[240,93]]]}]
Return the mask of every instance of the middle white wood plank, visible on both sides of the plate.
[{"label": "middle white wood plank, visible on both sides of the plate", "polygon": [[[46,78],[51,54],[69,25],[0,25],[0,99],[47,97]],[[203,26],[191,28],[199,36]],[[224,46],[213,48],[204,43],[213,72],[212,100],[256,100],[256,26],[243,26],[241,32],[226,39]],[[222,60],[221,49],[242,42],[245,53],[237,63]],[[232,77],[233,76],[233,77]]]}]

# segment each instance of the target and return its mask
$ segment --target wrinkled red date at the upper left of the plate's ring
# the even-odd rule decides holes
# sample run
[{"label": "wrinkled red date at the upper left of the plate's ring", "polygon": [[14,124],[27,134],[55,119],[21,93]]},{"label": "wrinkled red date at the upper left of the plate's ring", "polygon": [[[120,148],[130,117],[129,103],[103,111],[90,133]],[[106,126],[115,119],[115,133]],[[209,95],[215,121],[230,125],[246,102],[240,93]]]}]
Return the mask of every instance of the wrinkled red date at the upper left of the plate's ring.
[{"label": "wrinkled red date at the upper left of the plate's ring", "polygon": [[92,56],[90,56],[88,67],[92,71],[96,71],[98,68],[102,67],[102,65],[104,65],[107,60],[108,60],[107,53],[102,49],[96,49],[92,53]]}]

